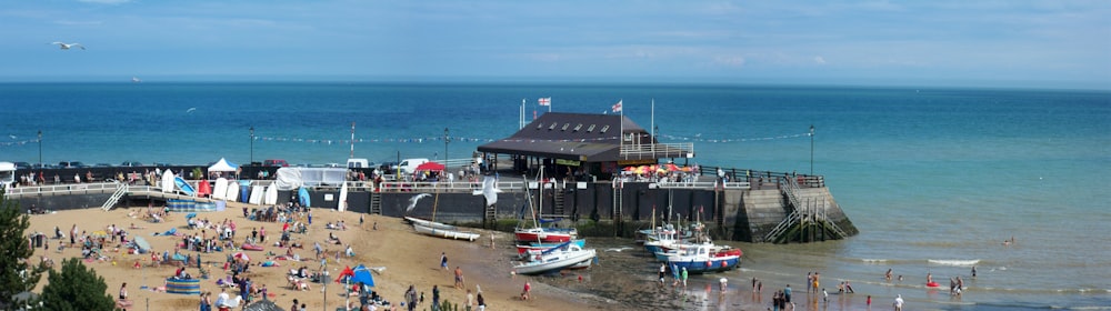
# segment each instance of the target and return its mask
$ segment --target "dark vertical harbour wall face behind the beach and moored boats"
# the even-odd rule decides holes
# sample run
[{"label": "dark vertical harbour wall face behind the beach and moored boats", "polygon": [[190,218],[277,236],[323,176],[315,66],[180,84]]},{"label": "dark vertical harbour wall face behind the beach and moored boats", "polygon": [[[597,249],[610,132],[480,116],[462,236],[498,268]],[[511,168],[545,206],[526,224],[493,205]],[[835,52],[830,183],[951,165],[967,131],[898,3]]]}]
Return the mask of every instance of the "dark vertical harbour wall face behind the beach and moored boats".
[{"label": "dark vertical harbour wall face behind the beach and moored boats", "polygon": [[[506,223],[531,222],[531,205],[540,207],[538,217],[560,218],[562,220],[558,223],[564,227],[607,228],[583,230],[584,232],[632,237],[635,230],[650,228],[654,213],[657,223],[701,221],[715,239],[745,242],[768,242],[764,237],[793,210],[782,190],[765,187],[659,188],[649,182],[625,182],[620,183],[620,188],[614,188],[611,182],[572,182],[562,185],[549,183],[549,187],[543,191],[531,189],[526,192],[520,189],[499,193],[498,202],[491,210],[492,222],[488,218],[486,198],[470,192],[376,192],[369,188],[354,188],[356,190],[348,192],[347,209],[352,213],[380,210],[387,217],[434,218],[447,223],[506,230]],[[825,187],[802,188],[798,191],[801,197],[834,202]],[[339,189],[317,188],[309,193],[313,208],[339,207]],[[14,200],[20,202],[24,211],[32,207],[48,210],[93,209],[100,208],[111,194],[110,190],[74,190],[66,195],[20,195]],[[278,203],[290,202],[294,199],[293,194],[292,191],[279,191]],[[380,202],[377,209],[373,207],[376,201]],[[164,200],[149,195],[126,195],[117,207],[146,207],[148,203],[160,207],[164,204]],[[831,204],[827,209],[827,215],[849,235],[857,234],[855,227],[840,205]]]}]

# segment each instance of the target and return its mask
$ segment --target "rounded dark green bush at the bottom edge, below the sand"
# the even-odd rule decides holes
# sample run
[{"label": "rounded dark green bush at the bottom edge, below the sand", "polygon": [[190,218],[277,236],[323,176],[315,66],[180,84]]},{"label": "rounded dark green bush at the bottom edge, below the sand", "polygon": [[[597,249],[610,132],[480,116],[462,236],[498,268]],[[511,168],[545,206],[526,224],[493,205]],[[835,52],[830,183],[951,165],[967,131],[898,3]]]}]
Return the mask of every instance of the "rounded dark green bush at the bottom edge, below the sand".
[{"label": "rounded dark green bush at the bottom edge, below the sand", "polygon": [[61,272],[50,270],[47,281],[39,297],[44,310],[116,310],[116,300],[107,294],[104,278],[84,267],[80,258],[62,260]]}]

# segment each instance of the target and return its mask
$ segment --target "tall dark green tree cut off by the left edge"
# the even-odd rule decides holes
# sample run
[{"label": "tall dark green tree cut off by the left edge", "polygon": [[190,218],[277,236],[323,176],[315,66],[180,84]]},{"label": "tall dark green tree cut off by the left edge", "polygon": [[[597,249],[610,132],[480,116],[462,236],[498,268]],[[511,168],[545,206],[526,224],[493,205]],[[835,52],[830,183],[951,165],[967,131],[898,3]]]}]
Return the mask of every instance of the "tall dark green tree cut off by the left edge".
[{"label": "tall dark green tree cut off by the left edge", "polygon": [[30,217],[19,211],[19,202],[8,200],[0,190],[0,308],[14,309],[20,305],[12,295],[34,289],[42,277],[43,268],[30,264],[33,254],[27,228]]}]

